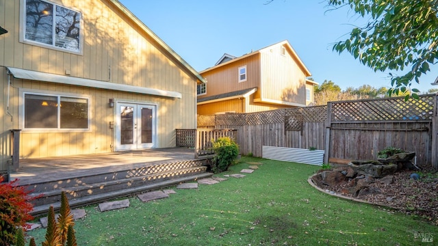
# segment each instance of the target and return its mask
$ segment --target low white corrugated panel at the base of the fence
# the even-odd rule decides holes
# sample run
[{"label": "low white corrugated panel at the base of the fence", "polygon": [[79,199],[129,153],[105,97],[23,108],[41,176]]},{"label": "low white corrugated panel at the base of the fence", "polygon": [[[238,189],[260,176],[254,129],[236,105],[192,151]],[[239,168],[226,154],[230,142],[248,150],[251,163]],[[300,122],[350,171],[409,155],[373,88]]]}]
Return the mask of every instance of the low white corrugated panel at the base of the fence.
[{"label": "low white corrugated panel at the base of the fence", "polygon": [[261,157],[276,161],[322,165],[324,163],[324,150],[262,146]]}]

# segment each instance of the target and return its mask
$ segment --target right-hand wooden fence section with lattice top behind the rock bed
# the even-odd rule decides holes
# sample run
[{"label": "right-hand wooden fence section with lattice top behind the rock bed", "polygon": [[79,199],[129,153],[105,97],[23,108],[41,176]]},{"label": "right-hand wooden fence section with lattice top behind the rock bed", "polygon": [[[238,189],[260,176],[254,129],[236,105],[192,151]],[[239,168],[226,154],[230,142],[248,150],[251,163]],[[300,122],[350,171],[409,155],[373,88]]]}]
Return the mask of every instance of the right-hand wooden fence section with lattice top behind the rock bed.
[{"label": "right-hand wooden fence section with lattice top behind the rock bed", "polygon": [[[414,151],[419,165],[433,164],[435,95],[329,103],[326,162],[331,159],[370,160],[388,146]],[[436,145],[435,145],[436,146]]]}]

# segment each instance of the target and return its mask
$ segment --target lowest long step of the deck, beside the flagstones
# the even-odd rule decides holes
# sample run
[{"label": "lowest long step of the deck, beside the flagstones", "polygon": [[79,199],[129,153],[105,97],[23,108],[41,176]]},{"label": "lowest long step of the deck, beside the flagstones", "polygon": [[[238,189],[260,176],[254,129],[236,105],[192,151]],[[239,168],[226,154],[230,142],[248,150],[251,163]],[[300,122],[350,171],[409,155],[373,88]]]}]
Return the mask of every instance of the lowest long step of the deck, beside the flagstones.
[{"label": "lowest long step of the deck, beside the flagstones", "polygon": [[[197,180],[197,179],[201,179],[201,178],[207,178],[207,177],[210,177],[212,175],[213,174],[211,174],[211,173],[205,172],[202,174],[194,174],[194,175],[185,176],[185,177],[181,177],[181,178],[173,178],[170,180],[153,182],[150,184],[144,184],[144,185],[139,186],[139,187],[132,187],[129,189],[120,189],[120,190],[116,190],[116,191],[111,191],[111,192],[106,192],[106,193],[101,193],[101,194],[96,194],[96,195],[90,195],[90,196],[86,196],[86,197],[75,198],[72,200],[68,200],[68,204],[70,205],[70,208],[77,208],[79,206],[86,206],[89,204],[96,204],[98,202],[112,200],[112,199],[117,198],[117,197],[124,197],[127,195],[134,195],[134,194],[138,194],[138,193],[144,193],[146,191],[153,191],[156,189],[162,189],[164,187],[170,187],[174,184],[179,184],[181,182],[188,182],[188,181]],[[51,204],[34,206],[34,210],[32,211],[31,215],[34,215],[34,216],[44,215],[45,213],[47,213],[49,211],[50,206],[53,206],[53,208],[55,208],[55,210],[59,210],[61,204],[60,204],[60,202],[54,202]]]}]

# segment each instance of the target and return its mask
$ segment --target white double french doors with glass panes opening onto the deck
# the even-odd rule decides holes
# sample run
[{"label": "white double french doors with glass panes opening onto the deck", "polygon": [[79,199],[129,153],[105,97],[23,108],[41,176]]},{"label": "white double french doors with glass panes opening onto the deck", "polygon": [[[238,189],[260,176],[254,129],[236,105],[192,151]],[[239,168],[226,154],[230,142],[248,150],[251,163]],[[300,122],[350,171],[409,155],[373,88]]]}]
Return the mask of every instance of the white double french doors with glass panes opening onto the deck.
[{"label": "white double french doors with glass panes opening onto the deck", "polygon": [[116,151],[156,147],[156,106],[116,103]]}]

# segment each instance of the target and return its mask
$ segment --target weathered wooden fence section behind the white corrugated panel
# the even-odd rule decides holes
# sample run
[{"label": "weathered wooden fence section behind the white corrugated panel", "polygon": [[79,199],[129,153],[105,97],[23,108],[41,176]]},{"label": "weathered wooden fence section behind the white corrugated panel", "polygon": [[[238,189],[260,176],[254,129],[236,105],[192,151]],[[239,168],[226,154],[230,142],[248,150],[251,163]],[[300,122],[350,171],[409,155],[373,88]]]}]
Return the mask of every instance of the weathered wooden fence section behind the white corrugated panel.
[{"label": "weathered wooden fence section behind the white corrugated panel", "polygon": [[327,107],[258,113],[198,115],[198,128],[237,129],[241,154],[261,156],[262,146],[324,150]]}]

